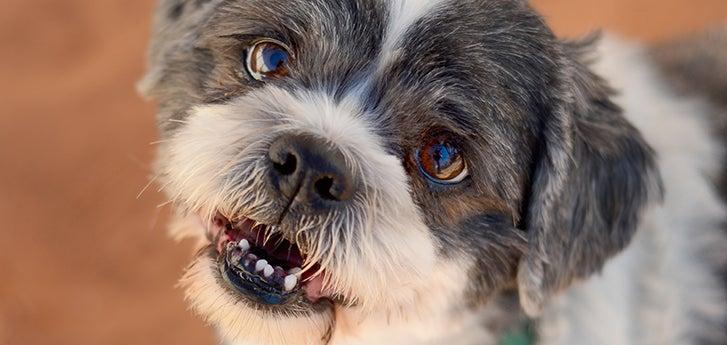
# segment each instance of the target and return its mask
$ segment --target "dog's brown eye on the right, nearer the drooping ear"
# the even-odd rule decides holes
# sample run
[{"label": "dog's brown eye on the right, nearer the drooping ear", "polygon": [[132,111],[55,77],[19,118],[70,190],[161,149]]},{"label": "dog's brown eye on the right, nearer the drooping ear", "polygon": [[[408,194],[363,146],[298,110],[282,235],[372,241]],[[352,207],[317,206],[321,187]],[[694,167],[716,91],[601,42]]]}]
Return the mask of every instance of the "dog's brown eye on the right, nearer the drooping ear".
[{"label": "dog's brown eye on the right, nearer the drooping ear", "polygon": [[461,150],[444,134],[431,137],[419,149],[417,163],[422,173],[436,183],[459,183],[469,175]]}]

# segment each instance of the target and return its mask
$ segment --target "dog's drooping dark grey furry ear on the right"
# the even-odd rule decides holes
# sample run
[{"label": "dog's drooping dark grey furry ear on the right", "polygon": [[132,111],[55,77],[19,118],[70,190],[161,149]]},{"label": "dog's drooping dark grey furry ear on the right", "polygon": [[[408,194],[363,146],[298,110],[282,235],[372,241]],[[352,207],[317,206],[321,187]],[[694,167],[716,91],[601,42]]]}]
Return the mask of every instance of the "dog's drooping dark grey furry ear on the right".
[{"label": "dog's drooping dark grey furry ear on the right", "polygon": [[586,48],[563,43],[565,87],[543,120],[526,205],[528,251],[517,276],[532,316],[626,247],[643,208],[661,196],[653,151],[611,101],[611,89],[579,61]]}]

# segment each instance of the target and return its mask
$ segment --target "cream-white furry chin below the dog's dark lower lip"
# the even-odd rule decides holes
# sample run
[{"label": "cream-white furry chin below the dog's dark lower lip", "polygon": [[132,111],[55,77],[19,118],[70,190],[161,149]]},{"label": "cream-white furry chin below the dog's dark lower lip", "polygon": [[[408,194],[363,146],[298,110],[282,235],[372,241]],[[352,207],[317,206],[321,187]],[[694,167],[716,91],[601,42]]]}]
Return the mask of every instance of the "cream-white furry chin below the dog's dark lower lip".
[{"label": "cream-white furry chin below the dog's dark lower lip", "polygon": [[325,344],[334,326],[334,307],[328,299],[315,303],[300,294],[280,304],[230,283],[224,264],[205,250],[189,267],[182,284],[192,308],[214,326],[226,341],[241,344]]}]

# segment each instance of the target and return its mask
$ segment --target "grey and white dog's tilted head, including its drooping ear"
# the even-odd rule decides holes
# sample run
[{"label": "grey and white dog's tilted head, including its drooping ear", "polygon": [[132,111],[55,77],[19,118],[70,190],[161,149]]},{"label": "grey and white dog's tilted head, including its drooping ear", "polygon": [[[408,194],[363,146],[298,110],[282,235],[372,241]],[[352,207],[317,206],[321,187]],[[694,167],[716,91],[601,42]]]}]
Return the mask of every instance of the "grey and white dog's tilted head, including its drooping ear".
[{"label": "grey and white dog's tilted head, including its drooping ear", "polygon": [[537,312],[658,190],[578,48],[514,0],[163,1],[145,87],[164,190],[209,244],[193,307],[260,344],[510,288]]}]

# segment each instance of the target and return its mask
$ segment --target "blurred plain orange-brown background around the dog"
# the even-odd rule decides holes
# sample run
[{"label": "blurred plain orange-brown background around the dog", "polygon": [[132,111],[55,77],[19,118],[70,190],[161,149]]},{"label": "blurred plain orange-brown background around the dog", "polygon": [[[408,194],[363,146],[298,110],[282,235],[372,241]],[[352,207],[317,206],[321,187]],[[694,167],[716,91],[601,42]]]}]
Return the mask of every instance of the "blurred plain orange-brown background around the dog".
[{"label": "blurred plain orange-brown background around the dog", "polygon": [[[555,31],[657,42],[727,22],[725,0],[535,0]],[[152,0],[3,0],[0,344],[212,344],[175,287],[190,244],[149,188],[137,97]]]}]

